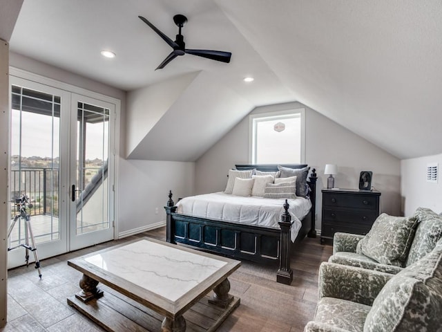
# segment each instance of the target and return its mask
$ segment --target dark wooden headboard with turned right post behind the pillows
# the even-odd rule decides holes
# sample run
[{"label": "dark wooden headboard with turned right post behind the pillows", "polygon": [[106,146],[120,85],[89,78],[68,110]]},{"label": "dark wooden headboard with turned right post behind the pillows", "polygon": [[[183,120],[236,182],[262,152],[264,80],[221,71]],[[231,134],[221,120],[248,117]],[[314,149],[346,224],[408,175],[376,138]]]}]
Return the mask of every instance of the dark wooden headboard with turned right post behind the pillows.
[{"label": "dark wooden headboard with turned right post behind the pillows", "polygon": [[[300,169],[307,167],[307,164],[268,164],[268,165],[235,165],[236,169],[240,171],[244,171],[246,169],[258,169],[262,172],[277,172],[278,165],[282,167]],[[316,216],[316,180],[318,176],[316,176],[316,169],[310,169],[310,176],[307,178],[307,184],[310,187],[310,201],[311,201],[311,230],[309,232],[309,237],[316,237],[315,230],[315,216]]]}]

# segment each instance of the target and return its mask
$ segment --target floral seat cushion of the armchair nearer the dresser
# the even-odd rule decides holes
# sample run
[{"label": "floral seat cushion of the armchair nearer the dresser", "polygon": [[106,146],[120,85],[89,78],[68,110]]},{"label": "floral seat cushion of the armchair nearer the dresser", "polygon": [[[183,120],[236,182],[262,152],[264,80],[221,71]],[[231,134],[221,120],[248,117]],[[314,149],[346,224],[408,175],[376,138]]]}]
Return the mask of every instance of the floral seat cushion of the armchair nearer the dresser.
[{"label": "floral seat cushion of the armchair nearer the dresser", "polygon": [[387,264],[380,264],[372,258],[369,258],[356,252],[335,252],[329,257],[330,263],[342,264],[347,266],[356,266],[356,268],[367,268],[368,270],[375,270],[396,275],[403,268],[398,266],[391,266]]}]

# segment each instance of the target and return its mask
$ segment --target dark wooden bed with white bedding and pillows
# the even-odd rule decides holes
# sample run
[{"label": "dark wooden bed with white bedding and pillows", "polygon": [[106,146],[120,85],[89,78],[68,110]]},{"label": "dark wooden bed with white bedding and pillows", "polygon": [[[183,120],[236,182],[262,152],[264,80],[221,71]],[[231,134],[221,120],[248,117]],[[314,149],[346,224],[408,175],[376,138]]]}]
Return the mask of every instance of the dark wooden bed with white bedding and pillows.
[{"label": "dark wooden bed with white bedding and pillows", "polygon": [[[169,201],[165,207],[166,240],[170,243],[184,243],[236,259],[247,259],[258,263],[279,261],[280,269],[277,273],[277,282],[291,284],[292,273],[289,266],[291,245],[306,235],[316,237],[314,211],[317,177],[316,170],[311,169],[311,174],[307,178],[309,168],[303,164],[236,165],[236,174],[254,170],[253,172],[257,176],[271,175],[275,178],[290,178],[287,180],[290,181],[289,183],[281,183],[285,187],[289,187],[288,189],[291,188],[291,191],[296,187],[296,194],[285,193],[294,196],[294,198],[285,197],[285,199],[289,199],[288,204],[285,204],[285,199],[282,199],[282,196],[285,195],[282,193],[278,193],[281,198],[266,198],[266,193],[269,194],[267,190],[273,189],[268,184],[262,197],[242,197],[217,192],[186,197],[177,205],[173,203],[170,193]],[[296,178],[292,179],[291,176]],[[230,178],[229,174],[229,181]],[[222,195],[224,197],[221,197]],[[191,204],[184,201],[190,201]],[[197,201],[196,204],[192,203]],[[204,216],[200,214],[199,210],[194,209],[196,205],[198,208],[201,206],[207,208],[203,209]],[[210,207],[220,208],[213,210],[209,209]],[[251,208],[253,210],[250,210]],[[255,218],[256,215],[258,219],[244,221],[240,219],[240,216],[237,218],[236,214],[233,214],[236,211],[244,212],[243,209],[248,212],[242,213],[242,216]],[[302,216],[296,216],[295,210],[302,210]],[[230,219],[224,218],[227,216]],[[274,216],[274,218],[265,219],[267,221],[264,224],[259,224],[262,217],[265,216]]]}]

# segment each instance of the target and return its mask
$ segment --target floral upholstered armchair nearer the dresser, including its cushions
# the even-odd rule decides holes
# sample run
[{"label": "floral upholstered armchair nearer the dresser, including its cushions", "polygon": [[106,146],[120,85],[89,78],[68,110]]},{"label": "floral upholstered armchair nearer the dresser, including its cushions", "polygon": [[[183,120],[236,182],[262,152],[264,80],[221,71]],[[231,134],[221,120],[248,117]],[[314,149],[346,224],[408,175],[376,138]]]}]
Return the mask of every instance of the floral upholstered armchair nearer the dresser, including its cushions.
[{"label": "floral upholstered armchair nearer the dresser, including its cushions", "polygon": [[378,216],[367,235],[335,233],[329,262],[396,274],[431,252],[442,238],[442,216],[418,208],[413,216]]}]

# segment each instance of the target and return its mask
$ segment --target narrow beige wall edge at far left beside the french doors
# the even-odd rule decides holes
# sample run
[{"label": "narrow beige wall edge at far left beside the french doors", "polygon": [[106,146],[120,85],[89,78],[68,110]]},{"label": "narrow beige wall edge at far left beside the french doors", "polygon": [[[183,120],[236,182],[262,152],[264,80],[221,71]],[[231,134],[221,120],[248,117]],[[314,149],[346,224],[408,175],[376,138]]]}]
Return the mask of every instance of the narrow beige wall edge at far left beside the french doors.
[{"label": "narrow beige wall edge at far left beside the french doors", "polygon": [[8,244],[8,178],[9,178],[9,45],[0,39],[0,328],[6,324]]}]

